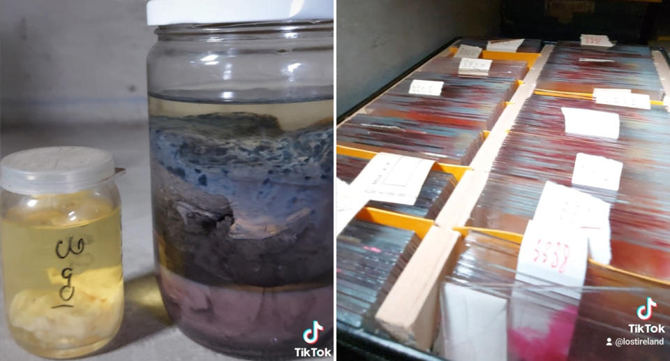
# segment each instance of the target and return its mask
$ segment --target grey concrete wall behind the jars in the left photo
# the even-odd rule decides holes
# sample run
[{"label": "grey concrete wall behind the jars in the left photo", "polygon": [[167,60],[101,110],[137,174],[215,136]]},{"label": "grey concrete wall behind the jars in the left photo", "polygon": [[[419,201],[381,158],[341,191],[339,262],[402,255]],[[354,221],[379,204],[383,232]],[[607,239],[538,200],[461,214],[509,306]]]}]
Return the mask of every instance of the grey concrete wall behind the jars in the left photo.
[{"label": "grey concrete wall behind the jars in the left photo", "polygon": [[139,122],[145,0],[0,0],[2,126]]}]

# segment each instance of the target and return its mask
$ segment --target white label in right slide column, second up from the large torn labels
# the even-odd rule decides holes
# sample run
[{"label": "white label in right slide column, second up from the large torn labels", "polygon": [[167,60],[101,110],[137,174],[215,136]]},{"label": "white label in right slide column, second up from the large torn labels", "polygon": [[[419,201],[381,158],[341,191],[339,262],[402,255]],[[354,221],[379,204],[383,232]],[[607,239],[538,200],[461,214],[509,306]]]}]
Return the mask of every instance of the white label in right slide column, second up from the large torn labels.
[{"label": "white label in right slide column, second up from the large torn labels", "polygon": [[619,138],[619,115],[579,108],[560,108],[565,117],[565,133],[589,137]]}]

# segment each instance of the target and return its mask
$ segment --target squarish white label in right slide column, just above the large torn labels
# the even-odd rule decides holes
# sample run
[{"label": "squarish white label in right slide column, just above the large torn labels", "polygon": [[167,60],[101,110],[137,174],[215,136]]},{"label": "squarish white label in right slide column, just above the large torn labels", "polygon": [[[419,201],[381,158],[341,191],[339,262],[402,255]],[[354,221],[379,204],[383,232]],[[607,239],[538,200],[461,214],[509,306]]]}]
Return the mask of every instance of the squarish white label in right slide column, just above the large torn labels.
[{"label": "squarish white label in right slide column, just above the large torn labels", "polygon": [[577,153],[572,184],[618,191],[623,163],[604,156]]}]

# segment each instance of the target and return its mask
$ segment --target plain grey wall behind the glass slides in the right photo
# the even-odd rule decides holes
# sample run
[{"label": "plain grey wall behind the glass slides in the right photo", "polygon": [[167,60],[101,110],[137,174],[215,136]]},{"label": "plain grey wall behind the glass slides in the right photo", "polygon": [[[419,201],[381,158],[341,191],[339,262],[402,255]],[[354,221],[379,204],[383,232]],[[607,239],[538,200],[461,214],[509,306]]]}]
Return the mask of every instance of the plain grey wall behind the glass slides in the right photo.
[{"label": "plain grey wall behind the glass slides in the right photo", "polygon": [[499,28],[500,0],[338,0],[338,115],[454,36]]}]

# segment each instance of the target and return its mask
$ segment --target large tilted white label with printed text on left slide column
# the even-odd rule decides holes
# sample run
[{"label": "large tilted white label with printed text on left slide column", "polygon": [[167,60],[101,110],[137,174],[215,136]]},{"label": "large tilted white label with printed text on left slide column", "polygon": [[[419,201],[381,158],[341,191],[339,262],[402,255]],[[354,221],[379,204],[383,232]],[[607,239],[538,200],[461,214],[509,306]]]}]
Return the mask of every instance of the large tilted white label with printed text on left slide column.
[{"label": "large tilted white label with printed text on left slide column", "polygon": [[363,168],[351,186],[370,200],[414,205],[435,161],[379,153]]}]

